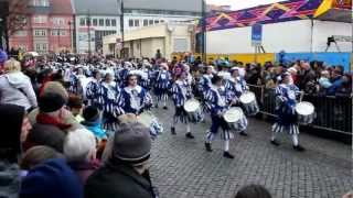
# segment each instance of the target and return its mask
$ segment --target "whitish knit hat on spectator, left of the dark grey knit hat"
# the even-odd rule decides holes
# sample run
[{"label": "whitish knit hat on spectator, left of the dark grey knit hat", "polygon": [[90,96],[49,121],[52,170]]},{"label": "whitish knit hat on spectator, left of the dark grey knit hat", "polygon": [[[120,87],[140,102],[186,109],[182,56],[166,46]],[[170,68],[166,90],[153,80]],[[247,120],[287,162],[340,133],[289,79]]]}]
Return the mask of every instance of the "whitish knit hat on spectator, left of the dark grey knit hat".
[{"label": "whitish knit hat on spectator, left of the dark grey knit hat", "polygon": [[84,162],[95,150],[96,139],[90,131],[78,129],[67,133],[64,142],[64,155],[68,162]]}]

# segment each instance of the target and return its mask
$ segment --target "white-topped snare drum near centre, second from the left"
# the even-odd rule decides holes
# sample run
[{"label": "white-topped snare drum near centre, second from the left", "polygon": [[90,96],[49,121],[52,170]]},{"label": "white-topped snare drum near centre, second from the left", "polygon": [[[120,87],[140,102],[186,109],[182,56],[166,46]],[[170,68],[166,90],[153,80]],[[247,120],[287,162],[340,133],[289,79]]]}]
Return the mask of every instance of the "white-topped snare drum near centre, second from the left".
[{"label": "white-topped snare drum near centre, second from the left", "polygon": [[189,121],[192,123],[200,123],[204,119],[204,114],[201,109],[201,103],[195,99],[190,99],[184,103],[184,110],[188,113]]}]

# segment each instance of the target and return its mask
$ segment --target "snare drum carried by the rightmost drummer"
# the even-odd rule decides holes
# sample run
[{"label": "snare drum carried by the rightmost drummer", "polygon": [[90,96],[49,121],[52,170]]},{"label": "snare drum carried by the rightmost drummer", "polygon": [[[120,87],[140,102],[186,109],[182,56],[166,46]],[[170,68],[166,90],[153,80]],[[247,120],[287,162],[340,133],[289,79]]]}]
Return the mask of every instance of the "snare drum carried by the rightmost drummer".
[{"label": "snare drum carried by the rightmost drummer", "polygon": [[315,118],[315,107],[307,101],[297,103],[296,112],[299,124],[311,124]]}]

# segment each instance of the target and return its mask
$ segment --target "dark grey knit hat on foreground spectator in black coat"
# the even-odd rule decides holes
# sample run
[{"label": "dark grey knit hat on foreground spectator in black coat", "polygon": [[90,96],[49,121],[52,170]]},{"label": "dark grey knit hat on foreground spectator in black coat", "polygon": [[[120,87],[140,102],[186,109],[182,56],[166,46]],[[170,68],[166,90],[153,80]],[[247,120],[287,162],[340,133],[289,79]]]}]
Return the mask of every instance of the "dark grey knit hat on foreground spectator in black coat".
[{"label": "dark grey knit hat on foreground spectator in black coat", "polygon": [[115,133],[113,158],[130,164],[140,164],[147,161],[151,152],[149,129],[141,123],[122,123]]}]

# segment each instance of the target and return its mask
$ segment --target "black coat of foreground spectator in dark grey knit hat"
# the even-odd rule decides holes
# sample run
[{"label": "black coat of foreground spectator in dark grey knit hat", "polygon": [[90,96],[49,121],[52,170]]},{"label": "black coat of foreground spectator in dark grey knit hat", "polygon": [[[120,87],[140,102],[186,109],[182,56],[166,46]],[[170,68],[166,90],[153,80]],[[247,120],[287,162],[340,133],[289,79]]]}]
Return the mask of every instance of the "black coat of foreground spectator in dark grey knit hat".
[{"label": "black coat of foreground spectator in dark grey knit hat", "polygon": [[105,165],[88,177],[85,198],[153,198],[149,178],[131,166]]}]

